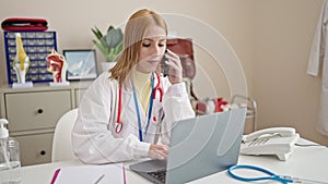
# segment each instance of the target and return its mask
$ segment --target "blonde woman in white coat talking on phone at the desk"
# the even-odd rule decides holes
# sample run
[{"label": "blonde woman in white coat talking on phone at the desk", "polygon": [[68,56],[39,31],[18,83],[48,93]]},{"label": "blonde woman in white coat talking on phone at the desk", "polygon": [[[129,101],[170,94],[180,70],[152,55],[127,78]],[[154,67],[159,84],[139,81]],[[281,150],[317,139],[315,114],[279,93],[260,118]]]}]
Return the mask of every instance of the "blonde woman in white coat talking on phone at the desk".
[{"label": "blonde woman in white coat talking on phone at the desk", "polygon": [[[72,131],[73,149],[86,163],[167,159],[172,123],[195,116],[177,54],[166,50],[164,19],[147,9],[133,13],[116,65],[85,91]],[[162,76],[165,53],[169,66]]]}]

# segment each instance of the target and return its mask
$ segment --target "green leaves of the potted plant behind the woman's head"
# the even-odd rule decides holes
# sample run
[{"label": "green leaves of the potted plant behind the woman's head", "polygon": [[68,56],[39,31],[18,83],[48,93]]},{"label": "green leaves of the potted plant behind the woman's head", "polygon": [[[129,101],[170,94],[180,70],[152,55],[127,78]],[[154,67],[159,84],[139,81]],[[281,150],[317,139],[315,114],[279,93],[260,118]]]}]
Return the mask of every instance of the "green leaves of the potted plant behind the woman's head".
[{"label": "green leaves of the potted plant behind the woman's head", "polygon": [[121,29],[114,28],[112,25],[108,27],[106,35],[95,27],[92,28],[93,34],[97,40],[93,39],[93,44],[103,53],[106,62],[113,62],[116,56],[122,50],[122,32]]}]

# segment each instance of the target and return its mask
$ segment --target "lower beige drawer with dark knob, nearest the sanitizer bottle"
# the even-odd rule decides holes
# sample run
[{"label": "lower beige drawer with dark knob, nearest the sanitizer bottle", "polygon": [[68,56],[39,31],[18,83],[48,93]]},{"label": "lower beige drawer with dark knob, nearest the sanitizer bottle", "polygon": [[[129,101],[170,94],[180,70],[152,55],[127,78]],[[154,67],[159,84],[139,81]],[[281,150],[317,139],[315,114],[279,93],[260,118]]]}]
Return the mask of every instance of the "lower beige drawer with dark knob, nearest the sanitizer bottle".
[{"label": "lower beige drawer with dark knob, nearest the sanitizer bottle", "polygon": [[51,161],[54,133],[16,136],[20,144],[22,165]]}]

